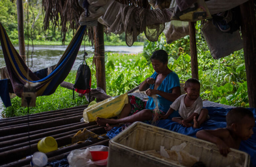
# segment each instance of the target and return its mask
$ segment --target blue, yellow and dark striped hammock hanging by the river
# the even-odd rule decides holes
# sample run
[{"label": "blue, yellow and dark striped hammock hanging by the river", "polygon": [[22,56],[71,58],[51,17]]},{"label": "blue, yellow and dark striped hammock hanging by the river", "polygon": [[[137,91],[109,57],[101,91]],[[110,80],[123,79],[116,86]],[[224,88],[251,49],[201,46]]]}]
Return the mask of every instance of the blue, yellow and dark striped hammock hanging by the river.
[{"label": "blue, yellow and dark striped hammock hanging by the river", "polygon": [[14,93],[18,97],[21,97],[23,87],[27,82],[38,82],[39,84],[36,87],[37,96],[53,94],[60,83],[63,82],[63,80],[67,77],[74,64],[83,40],[85,28],[85,25],[79,26],[76,34],[74,35],[73,39],[71,40],[70,44],[68,45],[67,49],[63,53],[61,59],[53,71],[49,75],[46,74],[45,76],[37,76],[38,72],[32,72],[30,69],[28,69],[27,65],[24,63],[10,42],[4,27],[0,23],[0,41]]}]

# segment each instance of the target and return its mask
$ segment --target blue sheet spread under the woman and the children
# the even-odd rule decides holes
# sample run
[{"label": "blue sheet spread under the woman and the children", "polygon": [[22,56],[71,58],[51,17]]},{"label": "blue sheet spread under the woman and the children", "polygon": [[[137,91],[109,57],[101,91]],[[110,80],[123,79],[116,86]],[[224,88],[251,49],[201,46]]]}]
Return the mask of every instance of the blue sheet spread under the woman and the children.
[{"label": "blue sheet spread under the woman and the children", "polygon": [[[222,107],[205,107],[209,111],[210,119],[204,122],[201,125],[201,128],[194,129],[192,127],[186,128],[182,125],[173,122],[171,120],[160,120],[156,126],[164,129],[168,129],[174,132],[178,132],[184,135],[196,137],[195,134],[197,131],[203,129],[217,129],[217,128],[225,128],[226,127],[226,115],[231,110],[231,108],[225,109]],[[253,112],[254,119],[256,120],[256,109],[248,108]],[[121,127],[114,127],[111,131],[107,133],[107,136],[111,139],[116,136],[119,132],[121,132]],[[251,156],[251,166],[256,167],[256,124],[253,128],[254,134],[252,137],[246,141],[242,141],[240,144],[239,150],[248,153]]]}]

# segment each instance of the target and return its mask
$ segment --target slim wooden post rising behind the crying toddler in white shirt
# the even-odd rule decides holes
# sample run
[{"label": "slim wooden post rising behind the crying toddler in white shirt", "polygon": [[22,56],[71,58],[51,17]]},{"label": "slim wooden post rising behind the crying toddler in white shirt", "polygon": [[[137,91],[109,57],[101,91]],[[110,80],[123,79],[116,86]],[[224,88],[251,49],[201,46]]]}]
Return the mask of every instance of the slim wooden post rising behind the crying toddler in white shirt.
[{"label": "slim wooden post rising behind the crying toddler in white shirt", "polygon": [[197,62],[197,51],[196,51],[196,40],[195,40],[195,23],[189,22],[189,43],[190,43],[190,54],[191,54],[191,73],[192,78],[198,80],[198,62]]}]

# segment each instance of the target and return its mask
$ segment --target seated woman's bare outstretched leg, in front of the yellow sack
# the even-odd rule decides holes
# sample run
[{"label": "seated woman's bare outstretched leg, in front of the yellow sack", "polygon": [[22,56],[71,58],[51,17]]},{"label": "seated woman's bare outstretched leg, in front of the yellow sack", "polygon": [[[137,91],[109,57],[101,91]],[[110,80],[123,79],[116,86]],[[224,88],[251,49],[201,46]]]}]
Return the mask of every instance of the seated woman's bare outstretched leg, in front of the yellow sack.
[{"label": "seated woman's bare outstretched leg, in front of the yellow sack", "polygon": [[134,123],[136,121],[149,121],[151,119],[152,119],[151,110],[145,109],[134,115],[124,117],[124,118],[119,118],[119,119],[105,119],[105,118],[97,117],[96,122],[99,126],[102,126],[106,124],[115,125],[120,123]]}]

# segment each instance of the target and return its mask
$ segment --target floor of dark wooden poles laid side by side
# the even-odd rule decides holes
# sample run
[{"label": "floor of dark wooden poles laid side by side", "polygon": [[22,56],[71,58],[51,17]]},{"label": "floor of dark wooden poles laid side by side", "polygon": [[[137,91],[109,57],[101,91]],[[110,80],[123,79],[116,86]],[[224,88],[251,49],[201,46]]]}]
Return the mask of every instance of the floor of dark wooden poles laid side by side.
[{"label": "floor of dark wooden poles laid side by side", "polygon": [[[58,150],[46,153],[49,162],[63,159],[66,154],[69,154],[74,149],[85,149],[92,145],[108,146],[109,139],[93,139],[91,142],[70,145],[71,137],[84,128],[97,135],[106,133],[104,127],[99,127],[96,122],[80,122],[86,107],[87,105],[77,106],[28,116],[1,119],[0,166],[29,166],[31,161],[29,155],[38,151],[37,142],[47,136],[54,137],[59,147]],[[203,107],[233,108],[233,106],[210,101],[203,101]],[[25,157],[27,158],[24,159]]]}]

